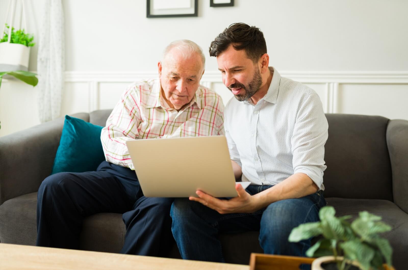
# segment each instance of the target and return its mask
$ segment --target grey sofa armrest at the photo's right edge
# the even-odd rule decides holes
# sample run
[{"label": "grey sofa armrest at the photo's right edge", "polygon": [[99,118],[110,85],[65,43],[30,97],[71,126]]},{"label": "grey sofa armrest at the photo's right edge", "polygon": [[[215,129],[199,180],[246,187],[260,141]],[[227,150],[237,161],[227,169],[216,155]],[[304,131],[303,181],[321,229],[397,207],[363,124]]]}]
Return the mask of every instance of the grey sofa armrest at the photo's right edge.
[{"label": "grey sofa armrest at the photo's right edge", "polygon": [[387,145],[392,170],[394,202],[408,213],[408,121],[390,120]]}]

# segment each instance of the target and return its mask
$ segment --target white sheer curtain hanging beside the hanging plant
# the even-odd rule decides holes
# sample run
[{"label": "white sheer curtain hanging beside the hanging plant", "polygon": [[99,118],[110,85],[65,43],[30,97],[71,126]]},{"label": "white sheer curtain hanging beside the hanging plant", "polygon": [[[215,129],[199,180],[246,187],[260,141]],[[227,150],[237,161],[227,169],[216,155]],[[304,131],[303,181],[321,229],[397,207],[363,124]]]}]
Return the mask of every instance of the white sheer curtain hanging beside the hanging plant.
[{"label": "white sheer curtain hanging beside the hanging plant", "polygon": [[41,122],[60,116],[64,87],[65,31],[61,0],[45,0],[38,40],[38,113]]}]

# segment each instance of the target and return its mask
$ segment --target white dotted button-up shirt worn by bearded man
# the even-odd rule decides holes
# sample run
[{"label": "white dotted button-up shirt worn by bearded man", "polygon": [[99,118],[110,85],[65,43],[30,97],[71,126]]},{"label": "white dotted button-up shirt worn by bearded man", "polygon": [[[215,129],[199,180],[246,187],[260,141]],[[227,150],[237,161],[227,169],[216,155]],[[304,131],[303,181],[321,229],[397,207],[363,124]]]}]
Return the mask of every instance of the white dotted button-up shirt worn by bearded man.
[{"label": "white dotted button-up shirt worn by bearded man", "polygon": [[242,181],[276,185],[304,173],[324,190],[328,124],[322,102],[313,89],[270,69],[268,93],[256,105],[235,97],[226,105],[224,126],[231,159],[242,167]]}]

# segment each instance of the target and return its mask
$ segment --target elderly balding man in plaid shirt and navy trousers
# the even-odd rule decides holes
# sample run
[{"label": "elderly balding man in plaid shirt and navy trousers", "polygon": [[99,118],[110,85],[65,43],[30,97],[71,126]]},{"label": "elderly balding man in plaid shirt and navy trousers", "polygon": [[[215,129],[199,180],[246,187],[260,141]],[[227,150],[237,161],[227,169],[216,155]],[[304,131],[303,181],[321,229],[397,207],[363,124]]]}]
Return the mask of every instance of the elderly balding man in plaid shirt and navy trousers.
[{"label": "elderly balding man in plaid shirt and navy trousers", "polygon": [[[178,40],[166,47],[158,63],[158,80],[136,82],[126,89],[102,129],[106,161],[97,171],[58,173],[42,182],[38,190],[37,246],[78,249],[84,217],[115,212],[124,213],[126,224],[122,253],[166,255],[172,239],[173,199],[144,197],[125,142],[223,135],[222,100],[200,86],[204,64],[197,44]],[[177,162],[164,149],[152,151],[157,159]]]}]

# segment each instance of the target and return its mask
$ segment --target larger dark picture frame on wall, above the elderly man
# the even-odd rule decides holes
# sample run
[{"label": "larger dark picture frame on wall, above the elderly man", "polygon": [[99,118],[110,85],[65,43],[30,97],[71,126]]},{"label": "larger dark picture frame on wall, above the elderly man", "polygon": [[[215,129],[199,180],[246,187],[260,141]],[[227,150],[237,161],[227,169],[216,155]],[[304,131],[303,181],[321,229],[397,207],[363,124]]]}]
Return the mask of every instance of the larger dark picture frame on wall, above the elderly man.
[{"label": "larger dark picture frame on wall, above the elderly man", "polygon": [[198,0],[146,0],[147,18],[197,17]]}]

